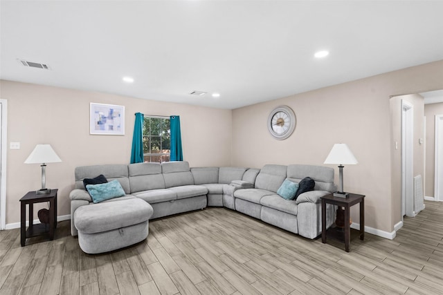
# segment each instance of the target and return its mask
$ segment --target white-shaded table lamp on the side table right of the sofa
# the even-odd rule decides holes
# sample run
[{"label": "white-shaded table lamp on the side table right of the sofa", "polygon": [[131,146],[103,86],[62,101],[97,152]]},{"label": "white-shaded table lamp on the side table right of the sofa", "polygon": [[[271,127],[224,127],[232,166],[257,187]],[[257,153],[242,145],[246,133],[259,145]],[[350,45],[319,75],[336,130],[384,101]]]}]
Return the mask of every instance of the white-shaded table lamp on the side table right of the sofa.
[{"label": "white-shaded table lamp on the side table right of the sofa", "polygon": [[327,155],[323,164],[338,164],[339,171],[339,187],[338,191],[334,192],[334,197],[346,198],[349,193],[343,191],[343,164],[358,164],[356,158],[352,154],[347,144],[334,144],[332,150]]}]

